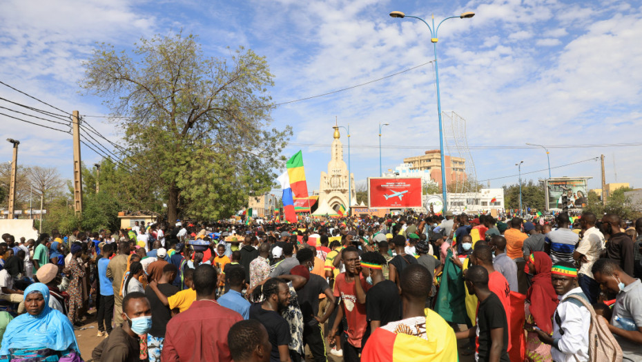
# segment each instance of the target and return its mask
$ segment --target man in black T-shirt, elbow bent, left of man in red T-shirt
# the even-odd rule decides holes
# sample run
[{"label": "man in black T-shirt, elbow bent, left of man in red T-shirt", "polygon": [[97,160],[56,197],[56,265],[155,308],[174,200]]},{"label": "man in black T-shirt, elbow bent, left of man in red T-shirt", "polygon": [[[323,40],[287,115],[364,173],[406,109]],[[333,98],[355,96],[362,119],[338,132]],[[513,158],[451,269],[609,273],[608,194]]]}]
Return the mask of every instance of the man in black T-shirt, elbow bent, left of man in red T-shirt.
[{"label": "man in black T-shirt, elbow bent, left of man in red T-shirt", "polygon": [[[334,311],[335,297],[325,278],[311,273],[314,268],[314,252],[311,249],[301,248],[296,254],[296,259],[310,272],[308,282],[297,290],[297,299],[303,314],[303,344],[308,345],[315,361],[327,361],[321,325]],[[291,274],[294,273],[291,271]],[[324,294],[329,303],[322,317],[318,316],[320,294]]]}]

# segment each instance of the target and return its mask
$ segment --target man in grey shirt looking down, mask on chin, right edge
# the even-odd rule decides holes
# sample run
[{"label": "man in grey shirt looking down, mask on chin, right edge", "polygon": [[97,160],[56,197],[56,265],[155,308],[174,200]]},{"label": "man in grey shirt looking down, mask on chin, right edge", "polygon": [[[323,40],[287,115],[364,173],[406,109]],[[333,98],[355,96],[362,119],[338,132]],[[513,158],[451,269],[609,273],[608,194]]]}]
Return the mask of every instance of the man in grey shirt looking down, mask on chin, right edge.
[{"label": "man in grey shirt looking down, mask on chin, right edge", "polygon": [[642,283],[610,259],[593,264],[595,281],[617,293],[609,330],[622,348],[625,361],[642,360]]}]

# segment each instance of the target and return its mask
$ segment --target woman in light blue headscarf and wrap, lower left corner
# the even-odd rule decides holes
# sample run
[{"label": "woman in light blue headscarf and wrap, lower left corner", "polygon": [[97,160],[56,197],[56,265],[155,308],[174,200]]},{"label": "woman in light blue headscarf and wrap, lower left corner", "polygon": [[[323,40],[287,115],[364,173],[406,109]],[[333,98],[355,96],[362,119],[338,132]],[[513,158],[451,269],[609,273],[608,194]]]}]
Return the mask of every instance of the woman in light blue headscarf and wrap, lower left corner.
[{"label": "woman in light blue headscarf and wrap, lower left corner", "polygon": [[27,312],[4,332],[0,362],[82,361],[73,326],[64,314],[49,308],[47,286],[33,283],[24,295]]}]

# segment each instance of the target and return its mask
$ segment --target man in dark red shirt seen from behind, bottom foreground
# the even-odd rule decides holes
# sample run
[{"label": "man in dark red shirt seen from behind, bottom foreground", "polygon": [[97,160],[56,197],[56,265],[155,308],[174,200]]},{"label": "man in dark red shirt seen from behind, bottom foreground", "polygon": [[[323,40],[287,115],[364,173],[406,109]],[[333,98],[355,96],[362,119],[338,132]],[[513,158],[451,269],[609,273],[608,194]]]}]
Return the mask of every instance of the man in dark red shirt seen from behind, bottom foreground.
[{"label": "man in dark red shirt seen from behind, bottom foreground", "polygon": [[194,271],[196,301],[174,316],[165,332],[163,361],[232,361],[227,334],[241,314],[216,299],[216,270],[201,264]]}]

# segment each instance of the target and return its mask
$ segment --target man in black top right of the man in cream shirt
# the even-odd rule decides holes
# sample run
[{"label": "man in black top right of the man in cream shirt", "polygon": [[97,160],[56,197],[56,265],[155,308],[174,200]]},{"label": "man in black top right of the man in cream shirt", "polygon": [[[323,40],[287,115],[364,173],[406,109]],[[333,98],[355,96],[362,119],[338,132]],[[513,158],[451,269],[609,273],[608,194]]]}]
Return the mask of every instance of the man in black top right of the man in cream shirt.
[{"label": "man in black top right of the man in cream shirt", "polygon": [[635,257],[633,241],[620,228],[620,217],[605,214],[602,217],[601,232],[607,237],[606,257],[616,261],[626,274],[633,275]]}]

